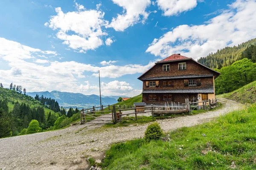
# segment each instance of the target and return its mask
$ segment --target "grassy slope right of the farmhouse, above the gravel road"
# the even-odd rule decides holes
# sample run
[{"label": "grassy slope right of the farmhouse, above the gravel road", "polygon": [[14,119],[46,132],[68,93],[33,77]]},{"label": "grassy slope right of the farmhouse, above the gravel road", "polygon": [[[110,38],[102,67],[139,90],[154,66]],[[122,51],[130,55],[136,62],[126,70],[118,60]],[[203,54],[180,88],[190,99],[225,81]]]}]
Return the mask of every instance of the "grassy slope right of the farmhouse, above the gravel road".
[{"label": "grassy slope right of the farmhouse, above the gravel road", "polygon": [[218,97],[224,97],[241,103],[256,102],[256,81],[244,85],[236,91],[218,95],[217,98]]}]

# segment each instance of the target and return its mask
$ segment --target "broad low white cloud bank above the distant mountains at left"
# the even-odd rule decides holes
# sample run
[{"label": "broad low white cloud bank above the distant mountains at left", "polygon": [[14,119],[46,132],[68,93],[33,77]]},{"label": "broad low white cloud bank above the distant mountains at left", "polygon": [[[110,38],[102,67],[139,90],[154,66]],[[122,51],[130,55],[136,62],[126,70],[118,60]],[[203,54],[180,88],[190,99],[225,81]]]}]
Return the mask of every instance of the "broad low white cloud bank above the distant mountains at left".
[{"label": "broad low white cloud bank above the distant mountains at left", "polygon": [[[150,68],[154,62],[148,65],[111,65],[116,61],[104,61],[105,66],[98,67],[75,61],[58,62],[40,59],[42,54],[51,60],[59,58],[55,51],[42,51],[31,48],[15,41],[0,38],[0,60],[8,63],[9,70],[0,68],[0,82],[5,86],[14,82],[16,85],[26,87],[27,91],[67,91],[83,94],[98,93],[98,85],[91,85],[86,76],[116,78],[126,74],[143,73]],[[52,54],[57,54],[52,57]],[[55,56],[55,55],[54,55]],[[84,80],[83,80],[84,79]],[[81,83],[83,80],[84,83]],[[105,95],[136,95],[135,90],[127,82],[111,81],[102,82],[102,93]]]}]

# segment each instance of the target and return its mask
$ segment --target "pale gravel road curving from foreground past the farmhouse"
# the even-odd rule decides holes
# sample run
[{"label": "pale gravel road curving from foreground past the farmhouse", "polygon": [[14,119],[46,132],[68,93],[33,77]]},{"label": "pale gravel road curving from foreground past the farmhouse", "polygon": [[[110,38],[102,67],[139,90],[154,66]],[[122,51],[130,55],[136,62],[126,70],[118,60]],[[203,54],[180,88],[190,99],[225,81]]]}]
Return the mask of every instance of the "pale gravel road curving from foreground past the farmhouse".
[{"label": "pale gravel road curving from foreground past the farmhouse", "polygon": [[[219,99],[225,107],[191,116],[157,120],[164,131],[189,127],[241,108]],[[66,129],[0,139],[0,170],[86,170],[86,156],[102,159],[112,143],[143,137],[148,124],[100,128],[83,124]]]}]

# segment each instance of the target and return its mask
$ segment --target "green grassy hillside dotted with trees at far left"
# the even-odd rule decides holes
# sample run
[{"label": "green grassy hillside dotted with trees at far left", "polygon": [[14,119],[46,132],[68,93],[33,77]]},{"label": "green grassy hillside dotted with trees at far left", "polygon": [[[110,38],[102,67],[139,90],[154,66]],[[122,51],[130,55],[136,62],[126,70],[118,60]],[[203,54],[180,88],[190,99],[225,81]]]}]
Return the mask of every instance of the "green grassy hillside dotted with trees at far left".
[{"label": "green grassy hillside dotted with trees at far left", "polygon": [[[14,107],[14,103],[19,102],[21,103],[26,103],[26,105],[29,105],[30,108],[37,108],[40,106],[40,102],[35,100],[31,96],[26,96],[24,94],[19,94],[15,91],[11,91],[6,88],[0,88],[0,100],[7,99],[8,101],[8,108],[9,111],[12,111]],[[44,108],[45,115],[47,116],[49,112],[55,113],[54,111]]]}]

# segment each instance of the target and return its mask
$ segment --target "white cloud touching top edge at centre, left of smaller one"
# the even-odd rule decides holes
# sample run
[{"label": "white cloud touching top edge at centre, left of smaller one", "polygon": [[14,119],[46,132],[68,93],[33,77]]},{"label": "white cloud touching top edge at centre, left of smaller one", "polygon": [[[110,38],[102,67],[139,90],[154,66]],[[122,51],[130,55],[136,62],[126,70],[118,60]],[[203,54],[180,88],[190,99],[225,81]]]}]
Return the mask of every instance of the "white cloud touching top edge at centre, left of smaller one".
[{"label": "white cloud touching top edge at centre, left of smaller one", "polygon": [[114,28],[116,31],[124,31],[126,28],[137,23],[145,23],[148,13],[145,9],[151,4],[150,0],[112,0],[113,3],[123,8],[122,14],[112,18],[106,28]]}]

